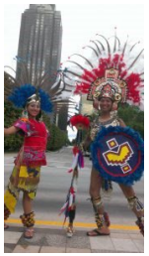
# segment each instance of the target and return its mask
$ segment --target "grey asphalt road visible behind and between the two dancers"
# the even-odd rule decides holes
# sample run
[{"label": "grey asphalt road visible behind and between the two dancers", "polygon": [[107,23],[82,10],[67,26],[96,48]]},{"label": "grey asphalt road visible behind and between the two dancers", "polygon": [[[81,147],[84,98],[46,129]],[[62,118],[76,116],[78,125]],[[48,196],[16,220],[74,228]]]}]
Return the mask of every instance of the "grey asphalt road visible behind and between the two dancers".
[{"label": "grey asphalt road visible behind and between the two dancers", "polygon": [[[13,169],[14,157],[16,154],[5,154],[5,189],[9,176]],[[34,209],[38,220],[63,221],[64,216],[59,216],[59,209],[63,205],[68,192],[71,176],[67,171],[71,167],[71,149],[63,148],[58,152],[47,152],[47,166],[41,169],[41,179],[37,190],[37,197],[34,201]],[[80,171],[78,179],[77,214],[75,221],[83,223],[94,223],[94,214],[89,196],[89,182],[91,172],[91,161],[85,158],[85,168]],[[135,192],[139,199],[144,201],[144,180],[134,185]],[[23,213],[22,194],[16,208],[16,212],[11,218],[18,219]],[[136,217],[127,206],[127,200],[123,196],[119,187],[113,183],[111,200],[104,199],[107,211],[110,214],[112,224],[135,225]]]}]

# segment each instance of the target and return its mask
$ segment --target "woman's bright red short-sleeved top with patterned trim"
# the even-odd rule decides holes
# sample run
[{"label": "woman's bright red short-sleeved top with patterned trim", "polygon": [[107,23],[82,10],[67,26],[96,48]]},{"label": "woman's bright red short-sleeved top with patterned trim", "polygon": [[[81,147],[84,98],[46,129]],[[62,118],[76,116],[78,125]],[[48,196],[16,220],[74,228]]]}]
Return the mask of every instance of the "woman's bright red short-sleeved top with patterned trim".
[{"label": "woman's bright red short-sleeved top with patterned trim", "polygon": [[44,123],[34,119],[29,119],[28,122],[20,119],[15,123],[15,127],[25,132],[24,145],[15,160],[15,164],[21,160],[21,164],[25,166],[45,166],[48,132]]}]

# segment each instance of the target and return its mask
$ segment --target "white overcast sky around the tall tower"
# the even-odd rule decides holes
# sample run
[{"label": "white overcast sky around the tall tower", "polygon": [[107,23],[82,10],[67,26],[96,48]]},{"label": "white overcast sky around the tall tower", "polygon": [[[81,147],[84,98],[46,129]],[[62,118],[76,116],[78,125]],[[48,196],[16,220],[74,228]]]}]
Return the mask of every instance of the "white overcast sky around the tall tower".
[{"label": "white overcast sky around the tall tower", "polygon": [[[30,4],[4,4],[4,64],[13,65],[18,52],[21,15]],[[93,39],[96,33],[143,42],[143,4],[56,4],[61,12],[63,38],[61,61]]]}]

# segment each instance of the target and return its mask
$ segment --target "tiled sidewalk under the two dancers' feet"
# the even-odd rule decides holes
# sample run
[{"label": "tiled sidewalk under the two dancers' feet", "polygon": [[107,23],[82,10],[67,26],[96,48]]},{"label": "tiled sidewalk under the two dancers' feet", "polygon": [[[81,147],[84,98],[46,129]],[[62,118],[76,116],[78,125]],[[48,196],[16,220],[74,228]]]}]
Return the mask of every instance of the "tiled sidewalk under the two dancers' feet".
[{"label": "tiled sidewalk under the two dancers' feet", "polygon": [[[110,236],[88,237],[86,229],[76,228],[67,238],[61,227],[35,228],[33,239],[25,239],[21,225],[4,232],[4,253],[143,253],[144,238],[139,230],[111,229]],[[89,229],[90,230],[90,229]]]}]

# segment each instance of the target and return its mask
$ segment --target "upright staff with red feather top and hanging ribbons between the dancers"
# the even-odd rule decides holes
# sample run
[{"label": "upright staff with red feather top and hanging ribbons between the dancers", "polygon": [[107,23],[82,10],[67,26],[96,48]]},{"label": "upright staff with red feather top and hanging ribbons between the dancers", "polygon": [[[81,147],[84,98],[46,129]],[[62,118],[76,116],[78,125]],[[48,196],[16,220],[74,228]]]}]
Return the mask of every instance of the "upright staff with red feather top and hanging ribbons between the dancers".
[{"label": "upright staff with red feather top and hanging ribbons between the dancers", "polygon": [[60,214],[62,212],[64,212],[65,214],[64,223],[66,221],[66,218],[69,217],[69,223],[67,227],[67,236],[72,237],[74,232],[73,222],[76,214],[76,192],[77,192],[78,173],[81,170],[81,168],[84,168],[84,158],[83,158],[82,148],[81,148],[81,142],[83,138],[82,132],[84,129],[89,128],[90,120],[88,117],[78,114],[71,117],[69,122],[72,126],[75,126],[77,128],[77,136],[75,140],[75,146],[73,147],[73,150],[72,150],[73,156],[74,156],[72,166],[71,166],[71,169],[68,171],[68,173],[72,173],[71,184],[66,196],[66,202],[60,209]]}]

